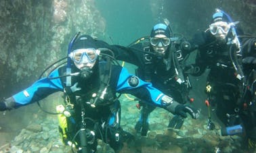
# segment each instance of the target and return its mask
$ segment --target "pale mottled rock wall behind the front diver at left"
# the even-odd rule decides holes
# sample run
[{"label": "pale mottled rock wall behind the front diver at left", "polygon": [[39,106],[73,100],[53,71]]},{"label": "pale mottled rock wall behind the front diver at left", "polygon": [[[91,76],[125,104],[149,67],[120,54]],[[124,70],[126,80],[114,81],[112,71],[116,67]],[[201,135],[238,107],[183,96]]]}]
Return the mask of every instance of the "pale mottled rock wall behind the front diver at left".
[{"label": "pale mottled rock wall behind the front diver at left", "polygon": [[105,22],[93,0],[0,1],[0,97],[31,84],[66,57],[72,36],[102,36]]}]

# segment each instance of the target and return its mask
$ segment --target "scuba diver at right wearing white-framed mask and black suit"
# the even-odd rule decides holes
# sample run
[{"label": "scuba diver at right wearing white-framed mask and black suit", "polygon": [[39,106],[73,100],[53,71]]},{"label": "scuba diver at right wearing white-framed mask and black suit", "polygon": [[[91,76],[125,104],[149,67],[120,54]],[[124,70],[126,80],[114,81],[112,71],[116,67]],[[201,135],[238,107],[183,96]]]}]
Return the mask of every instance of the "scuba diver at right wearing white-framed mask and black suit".
[{"label": "scuba diver at right wearing white-framed mask and black suit", "polygon": [[[221,129],[221,135],[244,132],[249,143],[255,147],[255,93],[252,92],[255,87],[251,87],[255,83],[253,80],[247,83],[249,74],[255,69],[255,65],[251,66],[255,62],[255,38],[243,35],[236,24],[238,22],[232,22],[226,12],[216,9],[209,28],[195,34],[192,40],[198,47],[193,65],[197,70],[192,75],[201,75],[205,69],[209,69],[205,102],[207,106],[215,107],[217,117],[226,125]],[[246,63],[250,65],[247,68]],[[246,91],[251,96],[246,96]],[[249,97],[251,99],[247,100]],[[208,110],[211,114],[211,109]],[[207,128],[215,129],[210,115]]]}]

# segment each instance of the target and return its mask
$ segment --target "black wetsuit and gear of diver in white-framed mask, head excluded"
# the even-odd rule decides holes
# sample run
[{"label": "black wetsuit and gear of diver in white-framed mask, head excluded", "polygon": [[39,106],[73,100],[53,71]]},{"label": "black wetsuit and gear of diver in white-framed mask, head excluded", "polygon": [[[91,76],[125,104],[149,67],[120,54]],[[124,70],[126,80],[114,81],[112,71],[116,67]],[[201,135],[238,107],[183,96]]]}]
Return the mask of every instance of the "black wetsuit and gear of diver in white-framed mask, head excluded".
[{"label": "black wetsuit and gear of diver in white-framed mask, head excluded", "polygon": [[[201,75],[205,69],[210,70],[205,91],[209,102],[216,106],[217,117],[226,126],[242,124],[247,135],[255,139],[256,109],[255,106],[249,106],[252,98],[246,101],[248,96],[244,96],[244,92],[247,88],[243,86],[248,82],[248,75],[255,65],[242,64],[242,58],[255,56],[255,51],[247,51],[248,38],[238,38],[241,42],[240,51],[236,44],[219,44],[209,31],[196,34],[193,42],[198,45],[196,66],[200,67],[200,71],[194,75]],[[252,111],[249,111],[249,107]]]}]

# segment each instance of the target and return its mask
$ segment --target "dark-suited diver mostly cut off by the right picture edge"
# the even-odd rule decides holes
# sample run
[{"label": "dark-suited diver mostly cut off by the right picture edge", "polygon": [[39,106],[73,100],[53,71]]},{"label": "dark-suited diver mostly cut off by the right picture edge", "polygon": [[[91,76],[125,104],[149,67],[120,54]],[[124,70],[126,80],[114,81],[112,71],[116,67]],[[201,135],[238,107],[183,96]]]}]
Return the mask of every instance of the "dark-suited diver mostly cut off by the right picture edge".
[{"label": "dark-suited diver mostly cut off by the right picture edge", "polygon": [[243,34],[238,38],[242,44],[242,70],[244,71],[242,121],[247,133],[248,147],[256,151],[256,37]]}]

